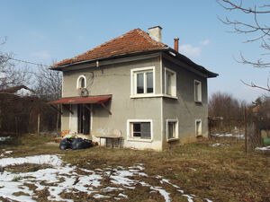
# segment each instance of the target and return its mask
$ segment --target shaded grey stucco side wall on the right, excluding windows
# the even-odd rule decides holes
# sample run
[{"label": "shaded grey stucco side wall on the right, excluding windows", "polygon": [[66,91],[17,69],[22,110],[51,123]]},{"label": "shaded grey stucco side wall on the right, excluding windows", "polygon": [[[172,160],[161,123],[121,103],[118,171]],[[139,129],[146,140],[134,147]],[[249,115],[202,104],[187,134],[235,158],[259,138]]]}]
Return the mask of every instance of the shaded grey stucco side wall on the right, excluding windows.
[{"label": "shaded grey stucco side wall on the right, excluding windows", "polygon": [[[166,119],[178,120],[180,143],[196,140],[195,119],[202,119],[202,136],[208,135],[207,78],[195,75],[181,66],[164,59],[163,66],[176,72],[176,96],[163,99],[163,127],[166,141]],[[202,103],[194,101],[194,80],[202,82]],[[164,84],[163,84],[164,85]]]}]

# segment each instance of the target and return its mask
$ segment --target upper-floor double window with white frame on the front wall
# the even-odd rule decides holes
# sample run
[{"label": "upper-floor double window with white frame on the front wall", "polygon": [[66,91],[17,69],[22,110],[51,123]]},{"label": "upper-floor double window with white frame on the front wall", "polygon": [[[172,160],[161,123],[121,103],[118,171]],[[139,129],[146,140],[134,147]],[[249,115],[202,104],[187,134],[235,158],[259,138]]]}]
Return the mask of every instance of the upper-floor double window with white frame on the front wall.
[{"label": "upper-floor double window with white frame on the front wall", "polygon": [[131,70],[131,94],[143,95],[154,93],[154,67]]}]

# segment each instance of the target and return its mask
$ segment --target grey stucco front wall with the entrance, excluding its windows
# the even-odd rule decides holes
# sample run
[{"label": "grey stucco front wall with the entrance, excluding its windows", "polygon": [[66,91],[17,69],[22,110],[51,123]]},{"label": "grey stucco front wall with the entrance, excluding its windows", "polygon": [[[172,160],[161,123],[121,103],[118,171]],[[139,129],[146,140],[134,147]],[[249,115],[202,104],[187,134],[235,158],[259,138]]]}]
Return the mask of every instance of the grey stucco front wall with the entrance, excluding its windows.
[{"label": "grey stucco front wall with the entrance, excluding its windows", "polygon": [[[160,93],[160,61],[158,57],[143,59],[136,62],[121,63],[109,66],[89,67],[76,71],[67,71],[63,73],[63,97],[76,97],[79,92],[76,89],[77,78],[85,75],[86,88],[90,96],[112,94],[112,101],[105,105],[112,111],[110,115],[102,106],[94,104],[92,114],[92,136],[113,133],[113,130],[121,131],[124,137],[124,144],[132,147],[132,140],[127,141],[127,120],[128,119],[151,119],[153,124],[152,143],[161,142],[160,136],[160,107],[161,98],[130,98],[130,70],[140,67],[155,66],[155,91]],[[66,113],[63,114],[62,129],[67,128],[69,118]],[[134,143],[141,144],[140,142]],[[151,148],[148,143],[145,146]],[[155,148],[160,150],[160,144]]]}]

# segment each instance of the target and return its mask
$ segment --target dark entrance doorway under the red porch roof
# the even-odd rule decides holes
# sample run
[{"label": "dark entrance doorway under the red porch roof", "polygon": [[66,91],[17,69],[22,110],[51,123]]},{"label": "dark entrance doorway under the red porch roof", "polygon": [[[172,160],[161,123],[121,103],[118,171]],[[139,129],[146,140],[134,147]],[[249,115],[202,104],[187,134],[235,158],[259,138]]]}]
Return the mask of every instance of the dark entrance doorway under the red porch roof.
[{"label": "dark entrance doorway under the red porch roof", "polygon": [[77,105],[77,128],[78,133],[89,135],[90,134],[90,119],[91,113],[83,104]]}]

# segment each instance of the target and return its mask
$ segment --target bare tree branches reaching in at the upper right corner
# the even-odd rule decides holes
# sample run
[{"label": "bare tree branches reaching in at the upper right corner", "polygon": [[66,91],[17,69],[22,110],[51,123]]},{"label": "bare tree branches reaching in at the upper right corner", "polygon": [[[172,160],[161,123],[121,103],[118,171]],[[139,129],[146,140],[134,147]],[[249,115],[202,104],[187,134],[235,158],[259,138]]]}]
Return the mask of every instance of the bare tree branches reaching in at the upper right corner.
[{"label": "bare tree branches reaching in at the upper right corner", "polygon": [[[250,7],[251,1],[242,0],[216,0],[220,6],[231,13],[242,13],[245,15],[245,21],[242,20],[231,20],[228,16],[220,19],[221,22],[232,26],[232,31],[239,34],[245,34],[250,38],[244,42],[255,42],[259,41],[259,48],[262,49],[260,57],[256,61],[252,61],[243,56],[240,52],[240,58],[238,62],[251,65],[258,68],[269,68],[270,61],[267,60],[270,55],[270,4],[269,1],[254,1],[252,7]],[[265,18],[261,18],[265,17]],[[268,17],[268,19],[266,18]],[[267,80],[266,86],[259,86],[256,83],[242,83],[255,88],[260,88],[270,92],[269,81]]]}]

